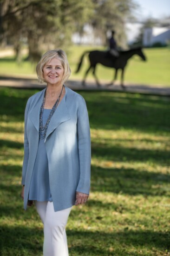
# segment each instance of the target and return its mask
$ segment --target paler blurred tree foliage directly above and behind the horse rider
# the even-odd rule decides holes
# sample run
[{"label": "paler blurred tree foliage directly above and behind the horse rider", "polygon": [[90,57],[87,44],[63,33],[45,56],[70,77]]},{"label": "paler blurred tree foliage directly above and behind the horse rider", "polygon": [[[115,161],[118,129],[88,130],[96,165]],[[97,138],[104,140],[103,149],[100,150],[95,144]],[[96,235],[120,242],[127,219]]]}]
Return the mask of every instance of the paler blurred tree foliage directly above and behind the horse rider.
[{"label": "paler blurred tree foliage directly above and behind the horse rider", "polygon": [[124,47],[126,36],[124,31],[125,19],[131,17],[132,10],[137,5],[132,0],[93,0],[95,6],[92,26],[100,35],[103,43],[107,44],[108,31],[116,31],[118,46]]}]

